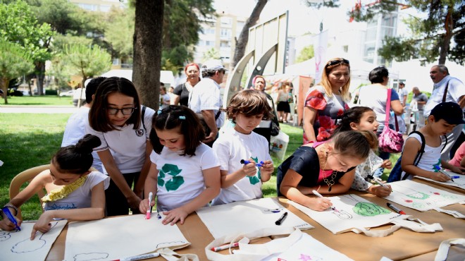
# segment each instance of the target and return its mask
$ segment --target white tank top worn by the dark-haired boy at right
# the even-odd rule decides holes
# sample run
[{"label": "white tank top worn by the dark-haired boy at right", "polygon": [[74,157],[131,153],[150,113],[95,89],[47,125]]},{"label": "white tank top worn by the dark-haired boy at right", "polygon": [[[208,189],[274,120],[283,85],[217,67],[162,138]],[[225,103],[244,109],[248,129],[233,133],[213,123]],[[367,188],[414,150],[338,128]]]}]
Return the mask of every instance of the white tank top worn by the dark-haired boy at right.
[{"label": "white tank top worn by the dark-haired boy at right", "polygon": [[[421,144],[420,135],[418,135],[416,133],[411,133],[409,135],[409,137],[407,137],[407,139],[405,140],[406,143],[407,143],[407,140],[409,140],[410,138],[415,138]],[[418,166],[420,169],[424,169],[426,171],[438,172],[435,169],[435,167],[440,167],[441,166],[441,150],[442,150],[442,147],[444,147],[444,145],[442,145],[442,144],[439,145],[438,147],[430,147],[430,146],[428,146],[428,144],[425,144],[425,152],[421,156],[419,164],[416,165],[416,166]],[[404,178],[404,175],[405,175],[405,171],[402,171],[401,180],[402,180],[402,178]],[[413,178],[414,178],[414,175],[409,175],[407,177],[407,179],[413,179]]]}]

